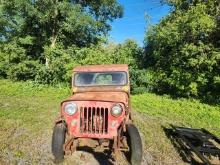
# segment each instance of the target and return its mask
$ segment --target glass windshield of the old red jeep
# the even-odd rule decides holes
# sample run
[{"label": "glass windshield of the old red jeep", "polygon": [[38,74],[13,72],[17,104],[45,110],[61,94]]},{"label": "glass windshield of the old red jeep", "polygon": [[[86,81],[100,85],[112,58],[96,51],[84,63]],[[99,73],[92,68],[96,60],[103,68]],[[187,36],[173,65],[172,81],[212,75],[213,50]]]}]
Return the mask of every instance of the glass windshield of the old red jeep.
[{"label": "glass windshield of the old red jeep", "polygon": [[126,72],[87,72],[76,73],[75,86],[126,85]]}]

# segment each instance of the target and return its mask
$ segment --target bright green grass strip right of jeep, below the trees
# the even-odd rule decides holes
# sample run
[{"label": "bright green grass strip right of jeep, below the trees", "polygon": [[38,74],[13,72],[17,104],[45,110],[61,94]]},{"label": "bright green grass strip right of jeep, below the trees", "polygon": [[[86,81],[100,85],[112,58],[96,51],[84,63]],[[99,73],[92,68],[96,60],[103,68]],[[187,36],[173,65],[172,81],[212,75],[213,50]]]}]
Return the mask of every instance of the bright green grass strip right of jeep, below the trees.
[{"label": "bright green grass strip right of jeep, below the trees", "polygon": [[205,128],[220,136],[220,106],[210,106],[197,100],[174,100],[150,93],[133,96],[132,106],[161,123]]}]

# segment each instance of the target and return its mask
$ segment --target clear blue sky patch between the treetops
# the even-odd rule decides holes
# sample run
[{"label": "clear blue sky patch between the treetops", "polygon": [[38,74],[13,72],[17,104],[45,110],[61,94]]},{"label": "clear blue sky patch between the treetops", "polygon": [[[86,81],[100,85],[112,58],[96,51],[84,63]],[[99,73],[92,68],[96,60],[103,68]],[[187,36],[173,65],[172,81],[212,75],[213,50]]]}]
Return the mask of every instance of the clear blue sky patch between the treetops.
[{"label": "clear blue sky patch between the treetops", "polygon": [[142,46],[147,26],[157,24],[170,11],[170,7],[161,5],[160,0],[119,0],[118,2],[124,7],[124,15],[111,23],[110,41],[116,43],[135,39]]}]

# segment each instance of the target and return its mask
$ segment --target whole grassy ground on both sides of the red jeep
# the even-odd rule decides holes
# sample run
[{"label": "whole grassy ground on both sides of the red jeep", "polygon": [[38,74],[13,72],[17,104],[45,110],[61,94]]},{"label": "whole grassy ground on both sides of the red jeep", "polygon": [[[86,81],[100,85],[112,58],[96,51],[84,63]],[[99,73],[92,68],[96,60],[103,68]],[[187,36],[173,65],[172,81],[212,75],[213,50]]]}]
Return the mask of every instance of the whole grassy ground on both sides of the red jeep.
[{"label": "whole grassy ground on both sides of the red jeep", "polygon": [[[0,164],[3,160],[19,163],[20,159],[30,164],[51,162],[54,120],[60,102],[70,93],[64,86],[0,80]],[[220,136],[219,106],[147,93],[132,96],[132,107],[145,155],[150,153],[154,163],[183,164],[164,133],[163,128],[170,124],[206,128]]]}]

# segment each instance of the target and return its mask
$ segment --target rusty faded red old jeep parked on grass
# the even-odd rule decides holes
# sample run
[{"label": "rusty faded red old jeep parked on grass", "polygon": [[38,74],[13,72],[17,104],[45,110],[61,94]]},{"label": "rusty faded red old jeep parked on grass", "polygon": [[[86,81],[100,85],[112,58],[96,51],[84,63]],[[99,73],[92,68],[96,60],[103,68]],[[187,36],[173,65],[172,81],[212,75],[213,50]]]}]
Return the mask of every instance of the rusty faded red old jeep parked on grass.
[{"label": "rusty faded red old jeep parked on grass", "polygon": [[90,65],[73,70],[72,96],[61,103],[55,122],[52,153],[64,159],[80,146],[125,153],[133,165],[141,163],[142,143],[132,124],[128,66]]}]

